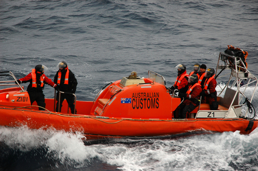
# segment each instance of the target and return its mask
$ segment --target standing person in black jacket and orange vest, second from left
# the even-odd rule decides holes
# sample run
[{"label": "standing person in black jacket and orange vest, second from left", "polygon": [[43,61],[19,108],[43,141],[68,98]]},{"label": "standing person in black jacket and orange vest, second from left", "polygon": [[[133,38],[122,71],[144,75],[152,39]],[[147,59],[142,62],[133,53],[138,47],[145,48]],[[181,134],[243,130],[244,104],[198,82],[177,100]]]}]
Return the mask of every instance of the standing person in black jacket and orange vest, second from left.
[{"label": "standing person in black jacket and orange vest, second from left", "polygon": [[62,102],[64,99],[67,100],[67,103],[71,109],[72,114],[74,114],[75,111],[75,105],[74,105],[74,96],[72,94],[75,94],[76,88],[77,88],[77,79],[75,78],[75,74],[68,69],[68,65],[66,62],[62,61],[59,62],[57,67],[59,70],[56,72],[54,76],[54,83],[56,83],[59,86],[59,89],[61,92],[66,92],[66,93],[61,93],[60,95],[60,110],[58,109],[58,103],[59,103],[59,92],[56,94],[56,108],[55,112],[61,111],[62,108]]}]

